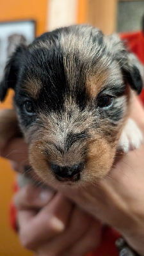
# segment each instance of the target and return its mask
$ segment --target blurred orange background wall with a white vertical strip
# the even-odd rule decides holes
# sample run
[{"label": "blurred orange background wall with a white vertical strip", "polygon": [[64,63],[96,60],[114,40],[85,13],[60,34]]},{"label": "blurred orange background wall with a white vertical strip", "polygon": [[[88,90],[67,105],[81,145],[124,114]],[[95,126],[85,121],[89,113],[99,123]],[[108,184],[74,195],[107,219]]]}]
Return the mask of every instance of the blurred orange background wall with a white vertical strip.
[{"label": "blurred orange background wall with a white vertical strip", "polygon": [[[144,1],[118,0],[0,0],[1,22],[35,20],[35,35],[70,24],[92,24],[107,35],[117,31],[141,29]],[[1,38],[0,38],[1,47]],[[0,56],[1,58],[1,56]],[[12,107],[13,92],[0,108]],[[28,256],[10,228],[8,211],[13,195],[15,173],[5,159],[0,159],[0,255]]]}]

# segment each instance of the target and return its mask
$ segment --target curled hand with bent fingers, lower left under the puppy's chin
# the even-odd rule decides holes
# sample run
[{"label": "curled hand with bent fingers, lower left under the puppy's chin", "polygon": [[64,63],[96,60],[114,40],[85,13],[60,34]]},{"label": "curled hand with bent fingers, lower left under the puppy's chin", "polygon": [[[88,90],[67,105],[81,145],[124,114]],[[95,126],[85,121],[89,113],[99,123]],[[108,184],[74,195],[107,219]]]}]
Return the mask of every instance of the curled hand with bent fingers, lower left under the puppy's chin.
[{"label": "curled hand with bent fingers, lower left under the puppy's chin", "polygon": [[100,242],[100,223],[65,196],[28,185],[15,195],[22,245],[37,256],[81,256]]}]

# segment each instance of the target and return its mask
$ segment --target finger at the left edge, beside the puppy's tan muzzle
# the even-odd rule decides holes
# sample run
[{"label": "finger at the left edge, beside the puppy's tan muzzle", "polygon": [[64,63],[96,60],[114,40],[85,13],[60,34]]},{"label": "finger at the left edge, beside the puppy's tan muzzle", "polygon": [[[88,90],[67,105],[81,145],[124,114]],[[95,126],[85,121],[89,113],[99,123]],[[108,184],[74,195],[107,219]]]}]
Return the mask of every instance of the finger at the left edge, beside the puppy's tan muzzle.
[{"label": "finger at the left edge, beside the puppy's tan muzzle", "polygon": [[1,156],[19,164],[28,164],[28,145],[23,138],[13,138],[1,150]]}]

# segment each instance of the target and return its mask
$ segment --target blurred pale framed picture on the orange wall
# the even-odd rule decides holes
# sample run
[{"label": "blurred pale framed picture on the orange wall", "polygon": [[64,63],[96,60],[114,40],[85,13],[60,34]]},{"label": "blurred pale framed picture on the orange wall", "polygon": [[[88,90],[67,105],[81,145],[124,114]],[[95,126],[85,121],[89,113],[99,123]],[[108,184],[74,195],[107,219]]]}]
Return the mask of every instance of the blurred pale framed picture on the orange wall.
[{"label": "blurred pale framed picture on the orange wall", "polygon": [[35,39],[35,20],[0,22],[0,79],[6,61],[19,44],[30,44]]}]

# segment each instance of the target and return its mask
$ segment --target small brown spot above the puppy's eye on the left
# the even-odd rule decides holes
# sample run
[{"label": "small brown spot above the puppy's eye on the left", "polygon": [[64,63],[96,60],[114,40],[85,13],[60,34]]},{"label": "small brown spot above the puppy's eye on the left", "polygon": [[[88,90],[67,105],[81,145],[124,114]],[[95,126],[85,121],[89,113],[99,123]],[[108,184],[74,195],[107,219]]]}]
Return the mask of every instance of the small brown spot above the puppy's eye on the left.
[{"label": "small brown spot above the puppy's eye on the left", "polygon": [[40,90],[42,88],[42,83],[41,81],[38,81],[33,78],[29,78],[25,83],[24,83],[24,88],[23,90],[28,93],[30,97],[33,99],[38,99],[38,95],[40,93]]}]

